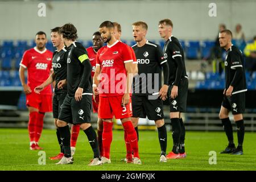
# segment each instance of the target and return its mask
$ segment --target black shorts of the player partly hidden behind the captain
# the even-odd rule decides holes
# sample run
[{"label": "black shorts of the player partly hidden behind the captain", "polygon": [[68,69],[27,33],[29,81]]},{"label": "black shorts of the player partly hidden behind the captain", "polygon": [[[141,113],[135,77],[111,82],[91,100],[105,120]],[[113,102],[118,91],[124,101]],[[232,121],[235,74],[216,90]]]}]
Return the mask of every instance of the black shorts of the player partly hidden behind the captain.
[{"label": "black shorts of the player partly hidden behind the captain", "polygon": [[52,100],[52,114],[53,118],[57,119],[60,113],[60,106],[63,104],[65,97],[67,96],[67,90],[63,90],[61,93],[54,93]]}]

